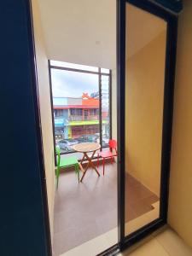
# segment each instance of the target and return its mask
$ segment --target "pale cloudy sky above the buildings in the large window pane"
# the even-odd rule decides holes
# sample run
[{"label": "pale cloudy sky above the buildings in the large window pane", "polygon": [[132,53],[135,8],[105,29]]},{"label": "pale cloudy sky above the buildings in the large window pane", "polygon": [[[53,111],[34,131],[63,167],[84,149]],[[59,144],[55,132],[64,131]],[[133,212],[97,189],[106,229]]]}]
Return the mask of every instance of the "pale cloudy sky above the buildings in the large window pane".
[{"label": "pale cloudy sky above the buildings in the large window pane", "polygon": [[51,69],[54,97],[81,97],[98,91],[98,75]]}]

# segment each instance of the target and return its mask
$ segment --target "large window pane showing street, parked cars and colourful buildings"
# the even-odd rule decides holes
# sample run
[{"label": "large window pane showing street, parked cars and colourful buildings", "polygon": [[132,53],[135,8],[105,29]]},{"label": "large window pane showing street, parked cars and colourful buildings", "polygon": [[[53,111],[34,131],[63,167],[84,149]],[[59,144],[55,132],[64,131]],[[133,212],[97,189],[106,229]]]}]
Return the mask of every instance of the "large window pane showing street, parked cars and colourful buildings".
[{"label": "large window pane showing street, parked cars and colourful buildings", "polygon": [[98,75],[51,69],[55,143],[61,153],[99,139]]}]

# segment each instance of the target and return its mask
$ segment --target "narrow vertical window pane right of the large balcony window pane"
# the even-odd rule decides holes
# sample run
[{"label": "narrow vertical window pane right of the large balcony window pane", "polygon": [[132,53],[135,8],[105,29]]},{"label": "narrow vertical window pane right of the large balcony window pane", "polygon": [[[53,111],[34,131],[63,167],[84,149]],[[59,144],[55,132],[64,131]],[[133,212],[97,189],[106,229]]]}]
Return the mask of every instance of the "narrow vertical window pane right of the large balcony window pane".
[{"label": "narrow vertical window pane right of the large balcony window pane", "polygon": [[109,76],[102,75],[102,147],[108,147],[110,138]]}]

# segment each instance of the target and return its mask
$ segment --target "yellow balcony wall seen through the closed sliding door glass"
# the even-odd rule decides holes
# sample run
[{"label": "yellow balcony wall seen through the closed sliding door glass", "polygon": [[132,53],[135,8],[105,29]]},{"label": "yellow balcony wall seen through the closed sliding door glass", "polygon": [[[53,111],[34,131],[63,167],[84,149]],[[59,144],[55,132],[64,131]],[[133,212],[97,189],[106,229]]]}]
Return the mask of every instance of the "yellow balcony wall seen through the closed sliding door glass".
[{"label": "yellow balcony wall seen through the closed sliding door glass", "polygon": [[164,32],[128,58],[125,78],[126,172],[158,197],[165,59],[166,24]]}]

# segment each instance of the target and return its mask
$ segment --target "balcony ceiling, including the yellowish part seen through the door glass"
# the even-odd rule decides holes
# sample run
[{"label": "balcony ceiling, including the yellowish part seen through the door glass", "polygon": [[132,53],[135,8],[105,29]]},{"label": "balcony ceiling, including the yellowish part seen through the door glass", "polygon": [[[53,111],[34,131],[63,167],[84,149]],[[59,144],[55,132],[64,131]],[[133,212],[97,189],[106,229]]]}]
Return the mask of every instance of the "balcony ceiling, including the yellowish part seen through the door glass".
[{"label": "balcony ceiling, including the yellowish part seen through the door glass", "polygon": [[[116,0],[38,0],[48,58],[116,67]],[[126,57],[166,29],[166,22],[127,4]],[[130,39],[131,38],[131,39]]]}]

